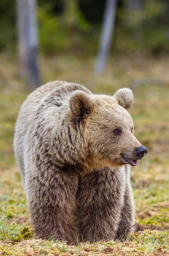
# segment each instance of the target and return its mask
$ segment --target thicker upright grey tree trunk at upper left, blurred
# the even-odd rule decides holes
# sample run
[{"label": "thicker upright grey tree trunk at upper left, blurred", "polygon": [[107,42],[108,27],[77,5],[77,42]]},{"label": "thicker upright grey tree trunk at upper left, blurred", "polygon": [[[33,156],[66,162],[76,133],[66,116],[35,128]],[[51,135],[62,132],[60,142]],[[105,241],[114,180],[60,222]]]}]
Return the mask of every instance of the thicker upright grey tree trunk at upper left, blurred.
[{"label": "thicker upright grey tree trunk at upper left, blurred", "polygon": [[36,0],[17,0],[17,29],[20,72],[29,88],[40,85],[37,62]]}]

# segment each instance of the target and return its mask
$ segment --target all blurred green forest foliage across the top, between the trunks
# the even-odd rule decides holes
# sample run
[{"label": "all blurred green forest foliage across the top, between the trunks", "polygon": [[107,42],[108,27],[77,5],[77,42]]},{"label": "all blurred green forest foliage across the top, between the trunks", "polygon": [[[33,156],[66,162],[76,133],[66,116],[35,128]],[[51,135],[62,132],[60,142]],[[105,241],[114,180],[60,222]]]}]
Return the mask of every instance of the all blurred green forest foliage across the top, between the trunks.
[{"label": "all blurred green forest foliage across the top, between the trunks", "polygon": [[[113,52],[169,52],[168,1],[144,0],[142,8],[135,10],[126,9],[126,1],[118,1]],[[105,0],[39,0],[40,52],[95,54],[104,5]],[[17,31],[13,0],[0,1],[0,31],[0,51],[14,52]]]}]

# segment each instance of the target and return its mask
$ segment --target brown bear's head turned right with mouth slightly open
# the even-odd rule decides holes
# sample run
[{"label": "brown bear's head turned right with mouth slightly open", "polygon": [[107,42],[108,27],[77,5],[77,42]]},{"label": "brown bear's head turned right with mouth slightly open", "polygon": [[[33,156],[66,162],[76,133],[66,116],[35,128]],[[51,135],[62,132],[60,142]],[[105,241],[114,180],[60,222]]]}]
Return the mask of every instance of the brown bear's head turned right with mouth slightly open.
[{"label": "brown bear's head turned right with mouth slightly open", "polygon": [[74,91],[70,109],[84,127],[95,168],[99,166],[136,166],[147,153],[134,136],[133,120],[129,112],[133,93],[129,88],[118,90],[113,96]]}]

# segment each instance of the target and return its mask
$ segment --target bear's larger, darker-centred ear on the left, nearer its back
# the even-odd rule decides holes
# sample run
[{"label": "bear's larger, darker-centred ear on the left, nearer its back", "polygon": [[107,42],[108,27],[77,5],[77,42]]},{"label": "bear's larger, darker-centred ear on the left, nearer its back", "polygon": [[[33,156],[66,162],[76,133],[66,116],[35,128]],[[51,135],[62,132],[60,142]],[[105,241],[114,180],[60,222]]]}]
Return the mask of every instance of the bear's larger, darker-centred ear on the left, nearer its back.
[{"label": "bear's larger, darker-centred ear on the left, nearer its back", "polygon": [[92,99],[90,96],[80,90],[72,93],[70,97],[70,109],[77,119],[83,119],[83,117],[89,114],[93,108]]}]

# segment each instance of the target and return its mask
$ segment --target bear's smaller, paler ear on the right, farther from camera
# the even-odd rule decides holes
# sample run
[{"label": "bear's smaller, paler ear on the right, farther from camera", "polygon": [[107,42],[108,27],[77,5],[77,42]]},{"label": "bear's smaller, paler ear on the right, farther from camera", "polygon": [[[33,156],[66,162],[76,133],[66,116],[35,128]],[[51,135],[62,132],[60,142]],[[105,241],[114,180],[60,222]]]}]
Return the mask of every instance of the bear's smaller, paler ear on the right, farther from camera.
[{"label": "bear's smaller, paler ear on the right, farther from camera", "polygon": [[118,104],[123,108],[129,109],[132,107],[134,96],[133,92],[129,88],[121,88],[114,94]]}]

